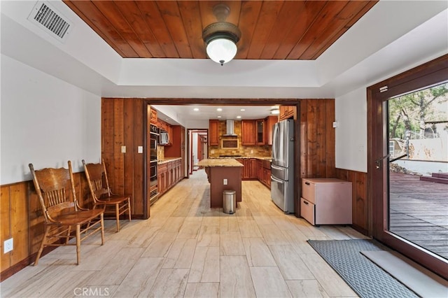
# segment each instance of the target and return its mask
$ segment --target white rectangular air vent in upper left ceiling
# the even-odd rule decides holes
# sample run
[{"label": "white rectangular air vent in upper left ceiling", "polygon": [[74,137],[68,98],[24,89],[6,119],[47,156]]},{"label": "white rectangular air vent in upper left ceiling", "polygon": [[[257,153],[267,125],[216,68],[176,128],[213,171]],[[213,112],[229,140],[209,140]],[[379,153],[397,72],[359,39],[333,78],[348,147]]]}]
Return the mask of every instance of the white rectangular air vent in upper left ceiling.
[{"label": "white rectangular air vent in upper left ceiling", "polygon": [[38,1],[29,14],[28,20],[41,27],[58,41],[64,42],[73,25],[52,8],[48,2]]}]

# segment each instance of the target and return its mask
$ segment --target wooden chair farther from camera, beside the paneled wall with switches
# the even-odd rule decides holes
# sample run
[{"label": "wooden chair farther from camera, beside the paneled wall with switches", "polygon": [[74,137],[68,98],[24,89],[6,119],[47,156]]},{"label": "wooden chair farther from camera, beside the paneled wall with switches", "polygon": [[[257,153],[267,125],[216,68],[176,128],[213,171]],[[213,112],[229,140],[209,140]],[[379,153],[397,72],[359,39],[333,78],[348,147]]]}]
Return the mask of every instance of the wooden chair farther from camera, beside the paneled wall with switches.
[{"label": "wooden chair farther from camera, beside the paneled wall with switches", "polygon": [[106,164],[86,164],[83,159],[85,176],[92,195],[94,207],[105,208],[105,214],[113,214],[117,220],[117,232],[120,231],[120,215],[127,212],[131,221],[131,196],[113,194],[107,178]]}]

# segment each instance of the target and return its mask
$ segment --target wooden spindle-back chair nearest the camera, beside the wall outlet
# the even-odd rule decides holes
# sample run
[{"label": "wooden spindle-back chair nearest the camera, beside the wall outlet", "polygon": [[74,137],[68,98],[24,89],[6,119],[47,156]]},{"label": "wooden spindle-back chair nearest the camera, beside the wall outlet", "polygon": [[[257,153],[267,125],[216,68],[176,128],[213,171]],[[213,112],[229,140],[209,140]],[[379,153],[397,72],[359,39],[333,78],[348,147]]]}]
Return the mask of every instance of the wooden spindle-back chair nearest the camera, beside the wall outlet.
[{"label": "wooden spindle-back chair nearest the camera, beside the wall outlet", "polygon": [[[78,265],[81,241],[100,231],[101,245],[104,244],[104,209],[90,210],[79,206],[70,161],[69,169],[46,168],[34,171],[33,164],[29,164],[29,169],[45,220],[45,232],[34,266],[37,265],[44,246],[69,245],[76,246],[76,264]],[[72,226],[76,227],[74,236],[71,234]],[[82,239],[81,233],[86,233]],[[69,243],[72,238],[76,238],[76,243]]]}]

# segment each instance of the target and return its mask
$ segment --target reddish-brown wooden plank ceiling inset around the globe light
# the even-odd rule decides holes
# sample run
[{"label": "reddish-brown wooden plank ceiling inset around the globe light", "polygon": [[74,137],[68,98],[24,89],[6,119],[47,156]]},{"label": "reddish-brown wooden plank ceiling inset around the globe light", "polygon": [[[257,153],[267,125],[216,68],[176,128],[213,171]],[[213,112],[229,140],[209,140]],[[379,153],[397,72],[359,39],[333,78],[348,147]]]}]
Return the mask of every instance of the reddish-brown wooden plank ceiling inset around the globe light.
[{"label": "reddish-brown wooden plank ceiling inset around the globe light", "polygon": [[316,59],[377,1],[68,1],[125,58],[207,58],[217,3],[241,30],[235,59]]}]

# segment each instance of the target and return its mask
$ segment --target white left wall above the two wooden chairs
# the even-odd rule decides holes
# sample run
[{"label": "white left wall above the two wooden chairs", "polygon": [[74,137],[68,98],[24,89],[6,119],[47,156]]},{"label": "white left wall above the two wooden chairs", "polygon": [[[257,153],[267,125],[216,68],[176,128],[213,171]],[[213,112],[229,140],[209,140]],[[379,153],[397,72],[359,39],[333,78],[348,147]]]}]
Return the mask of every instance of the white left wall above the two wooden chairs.
[{"label": "white left wall above the two wooden chairs", "polygon": [[101,157],[101,97],[1,55],[0,184]]}]

